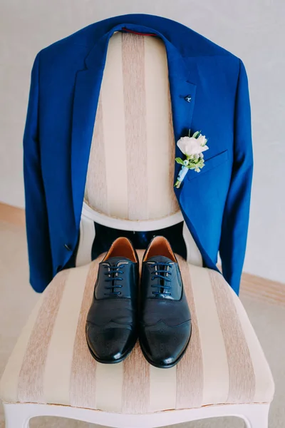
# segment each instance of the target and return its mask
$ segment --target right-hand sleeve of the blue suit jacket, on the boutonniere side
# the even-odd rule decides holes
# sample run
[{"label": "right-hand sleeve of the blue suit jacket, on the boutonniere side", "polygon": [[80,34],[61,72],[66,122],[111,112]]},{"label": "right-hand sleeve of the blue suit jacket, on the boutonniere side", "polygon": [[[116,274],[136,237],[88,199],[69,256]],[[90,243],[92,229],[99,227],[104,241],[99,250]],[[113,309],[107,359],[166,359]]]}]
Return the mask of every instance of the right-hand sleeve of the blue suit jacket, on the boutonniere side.
[{"label": "right-hand sleeve of the blue suit jacket, on the boutonniere side", "polygon": [[244,63],[239,60],[239,78],[234,111],[232,178],[224,208],[219,245],[223,275],[237,294],[239,294],[247,245],[252,170],[252,123],[249,87]]}]

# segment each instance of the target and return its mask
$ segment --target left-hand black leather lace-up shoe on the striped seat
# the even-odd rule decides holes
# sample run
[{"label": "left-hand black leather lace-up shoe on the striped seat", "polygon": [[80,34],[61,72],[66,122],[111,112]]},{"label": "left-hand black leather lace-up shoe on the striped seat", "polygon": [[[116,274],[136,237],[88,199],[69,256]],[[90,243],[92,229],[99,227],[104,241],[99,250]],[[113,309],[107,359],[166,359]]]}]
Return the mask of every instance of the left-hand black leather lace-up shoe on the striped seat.
[{"label": "left-hand black leather lace-up shoe on the striped seat", "polygon": [[127,238],[116,239],[99,264],[86,340],[98,362],[128,356],[138,339],[138,255]]}]

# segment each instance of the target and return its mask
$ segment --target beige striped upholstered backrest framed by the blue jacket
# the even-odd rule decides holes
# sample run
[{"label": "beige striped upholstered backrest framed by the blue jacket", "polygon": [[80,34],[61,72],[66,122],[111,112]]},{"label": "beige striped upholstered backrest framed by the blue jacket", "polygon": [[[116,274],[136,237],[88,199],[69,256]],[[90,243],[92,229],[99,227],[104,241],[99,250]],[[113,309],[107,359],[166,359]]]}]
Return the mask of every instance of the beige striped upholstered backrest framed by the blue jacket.
[{"label": "beige striped upholstered backrest framed by the blue jacket", "polygon": [[165,44],[110,38],[90,148],[85,201],[112,217],[163,218],[179,211]]}]

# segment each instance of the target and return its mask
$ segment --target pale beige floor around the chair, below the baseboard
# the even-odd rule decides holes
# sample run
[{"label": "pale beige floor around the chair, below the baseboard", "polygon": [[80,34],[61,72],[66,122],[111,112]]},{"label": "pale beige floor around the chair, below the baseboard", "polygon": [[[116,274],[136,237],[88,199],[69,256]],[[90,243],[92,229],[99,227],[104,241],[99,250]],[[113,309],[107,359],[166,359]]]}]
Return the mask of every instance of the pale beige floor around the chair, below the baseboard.
[{"label": "pale beige floor around the chair, below the baseboard", "polygon": [[[283,428],[285,426],[285,307],[249,297],[247,293],[242,294],[241,298],[264,348],[276,382],[276,394],[269,415],[269,428]],[[0,223],[0,376],[21,327],[37,299],[38,295],[28,285],[24,228],[2,222]],[[35,418],[30,425],[31,428],[95,427],[84,422],[53,417]],[[241,419],[228,417],[190,422],[177,427],[243,428],[244,422]],[[0,428],[4,428],[1,404]]]}]

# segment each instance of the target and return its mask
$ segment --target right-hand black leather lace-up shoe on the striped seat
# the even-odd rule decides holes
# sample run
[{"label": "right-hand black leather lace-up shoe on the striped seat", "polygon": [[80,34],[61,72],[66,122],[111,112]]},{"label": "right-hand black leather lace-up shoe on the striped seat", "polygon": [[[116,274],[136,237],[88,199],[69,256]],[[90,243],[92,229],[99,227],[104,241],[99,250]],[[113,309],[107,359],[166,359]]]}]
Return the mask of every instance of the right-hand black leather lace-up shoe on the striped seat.
[{"label": "right-hand black leather lace-up shoe on the striped seat", "polygon": [[155,367],[173,367],[191,336],[191,315],[180,269],[163,236],[150,242],[142,259],[140,285],[140,347]]}]

